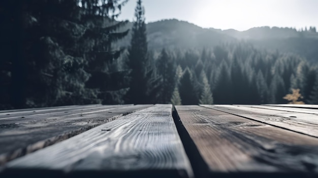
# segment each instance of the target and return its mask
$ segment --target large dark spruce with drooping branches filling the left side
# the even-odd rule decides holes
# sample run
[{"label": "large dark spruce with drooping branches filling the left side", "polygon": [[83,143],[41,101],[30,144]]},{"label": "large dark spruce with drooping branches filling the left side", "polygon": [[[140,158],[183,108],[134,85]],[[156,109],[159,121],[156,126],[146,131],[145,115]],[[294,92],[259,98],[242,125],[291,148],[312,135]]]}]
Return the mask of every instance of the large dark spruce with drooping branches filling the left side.
[{"label": "large dark spruce with drooping branches filling the left side", "polygon": [[[14,108],[87,104],[99,102],[99,97],[104,99],[98,97],[100,86],[90,89],[86,82],[94,77],[90,68],[92,61],[99,63],[97,54],[104,61],[118,55],[109,50],[109,44],[127,32],[114,33],[111,20],[125,2],[26,0],[6,5],[8,11],[1,13],[13,15],[16,24],[9,26],[20,31],[11,31],[15,44],[10,48],[14,53],[8,52],[12,65],[8,83]],[[101,70],[105,72],[105,67]],[[103,80],[99,78],[97,83]]]}]

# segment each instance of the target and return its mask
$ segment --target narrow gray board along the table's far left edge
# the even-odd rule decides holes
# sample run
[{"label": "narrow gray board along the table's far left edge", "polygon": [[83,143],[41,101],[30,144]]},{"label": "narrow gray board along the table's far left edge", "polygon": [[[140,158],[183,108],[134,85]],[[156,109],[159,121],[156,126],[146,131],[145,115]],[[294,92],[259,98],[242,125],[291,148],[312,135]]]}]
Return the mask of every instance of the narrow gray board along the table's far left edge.
[{"label": "narrow gray board along the table's far left edge", "polygon": [[28,119],[36,119],[42,117],[48,117],[49,115],[57,117],[71,114],[81,114],[83,112],[97,111],[100,109],[107,109],[112,107],[113,105],[102,105],[102,104],[94,104],[94,105],[79,105],[73,106],[70,108],[57,108],[57,109],[42,109],[42,110],[31,110],[31,111],[16,111],[9,113],[0,113],[0,123],[4,121],[12,120],[28,120]]}]

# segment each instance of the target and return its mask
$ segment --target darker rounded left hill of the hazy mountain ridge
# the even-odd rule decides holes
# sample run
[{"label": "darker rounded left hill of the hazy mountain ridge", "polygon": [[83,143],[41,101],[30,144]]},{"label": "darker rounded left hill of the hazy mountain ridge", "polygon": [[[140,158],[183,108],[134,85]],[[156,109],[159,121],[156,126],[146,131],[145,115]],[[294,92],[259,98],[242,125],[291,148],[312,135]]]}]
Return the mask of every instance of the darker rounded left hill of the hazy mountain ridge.
[{"label": "darker rounded left hill of the hazy mountain ridge", "polygon": [[[131,28],[132,23],[126,25],[125,29]],[[219,33],[195,24],[176,19],[162,20],[147,24],[147,38],[150,49],[165,48],[203,48],[215,45],[236,42],[234,37]],[[120,41],[118,45],[129,46],[131,34]]]}]

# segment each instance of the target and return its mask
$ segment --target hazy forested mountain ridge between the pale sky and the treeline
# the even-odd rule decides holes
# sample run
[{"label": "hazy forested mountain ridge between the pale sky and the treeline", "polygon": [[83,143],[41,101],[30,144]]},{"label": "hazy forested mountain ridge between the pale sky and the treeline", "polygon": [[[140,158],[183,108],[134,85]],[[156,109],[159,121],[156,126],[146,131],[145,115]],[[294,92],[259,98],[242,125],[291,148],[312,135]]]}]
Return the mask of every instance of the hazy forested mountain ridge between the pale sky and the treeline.
[{"label": "hazy forested mountain ridge between the pale sky and the treeline", "polygon": [[[123,29],[132,27],[129,22]],[[235,29],[202,28],[193,23],[177,19],[149,22],[147,26],[148,47],[152,50],[202,49],[225,43],[248,42],[258,48],[291,52],[306,57],[309,61],[318,61],[318,33],[310,28],[297,31],[288,27],[253,27],[245,31]],[[121,30],[123,30],[121,29]],[[131,34],[117,44],[129,46]]]}]

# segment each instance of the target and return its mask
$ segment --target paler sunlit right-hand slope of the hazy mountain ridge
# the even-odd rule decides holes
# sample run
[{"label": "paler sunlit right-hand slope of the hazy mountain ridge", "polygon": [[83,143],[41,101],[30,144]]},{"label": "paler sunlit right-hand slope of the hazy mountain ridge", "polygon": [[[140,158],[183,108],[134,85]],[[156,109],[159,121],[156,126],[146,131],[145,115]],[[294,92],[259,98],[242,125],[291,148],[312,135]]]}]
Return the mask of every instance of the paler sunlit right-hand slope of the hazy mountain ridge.
[{"label": "paler sunlit right-hand slope of the hazy mountain ridge", "polygon": [[[212,31],[215,29],[210,28]],[[246,31],[218,30],[252,43],[256,47],[291,52],[306,57],[309,61],[318,62],[318,33],[313,31],[297,31],[294,28],[255,27]]]}]

